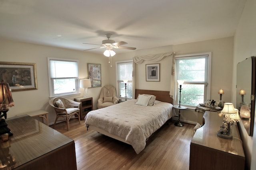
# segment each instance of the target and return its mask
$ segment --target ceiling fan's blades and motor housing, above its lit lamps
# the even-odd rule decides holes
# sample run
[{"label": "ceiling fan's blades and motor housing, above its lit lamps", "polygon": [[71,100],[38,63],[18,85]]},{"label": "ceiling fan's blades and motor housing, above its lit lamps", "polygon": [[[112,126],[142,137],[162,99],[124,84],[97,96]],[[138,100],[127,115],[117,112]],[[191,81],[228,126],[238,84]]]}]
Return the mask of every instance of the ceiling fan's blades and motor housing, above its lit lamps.
[{"label": "ceiling fan's blades and motor housing, above its lit lamps", "polygon": [[[124,41],[115,42],[114,40],[110,39],[111,35],[112,35],[111,33],[106,33],[106,37],[108,39],[103,40],[102,45],[100,45],[100,44],[91,44],[91,45],[100,45],[100,47],[96,47],[96,48],[92,48],[92,49],[106,48],[106,50],[108,50],[108,51],[113,51],[113,48],[115,48],[115,49],[129,49],[129,50],[135,50],[136,49],[134,47],[121,46],[121,45],[125,45],[125,44],[128,44],[128,43],[126,43]],[[90,43],[83,43],[83,44],[90,44]],[[86,50],[92,50],[92,49],[86,49]],[[86,51],[86,50],[84,50],[84,51]],[[107,56],[107,57],[109,57],[109,56]]]}]

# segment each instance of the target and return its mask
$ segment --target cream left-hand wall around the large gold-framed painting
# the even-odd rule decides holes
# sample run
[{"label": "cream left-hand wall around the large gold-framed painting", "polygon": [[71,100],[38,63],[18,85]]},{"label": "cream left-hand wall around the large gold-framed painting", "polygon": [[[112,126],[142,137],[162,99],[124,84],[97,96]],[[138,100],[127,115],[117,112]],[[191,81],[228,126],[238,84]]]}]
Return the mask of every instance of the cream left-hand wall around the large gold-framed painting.
[{"label": "cream left-hand wall around the large gold-framed painting", "polygon": [[[81,79],[88,78],[87,63],[99,63],[102,69],[102,86],[109,83],[108,59],[103,55],[0,39],[0,57],[0,61],[2,62],[36,63],[38,90],[12,92],[14,107],[10,108],[7,117],[44,109],[49,111],[49,123],[54,122],[56,115],[54,109],[48,104],[49,83],[47,57],[78,59],[78,76]],[[80,88],[79,90],[81,92],[80,96],[82,96],[84,89]],[[93,97],[95,109],[100,96],[100,90],[100,87],[88,89],[89,95]],[[67,98],[74,100],[75,97],[80,96],[69,96]]]}]

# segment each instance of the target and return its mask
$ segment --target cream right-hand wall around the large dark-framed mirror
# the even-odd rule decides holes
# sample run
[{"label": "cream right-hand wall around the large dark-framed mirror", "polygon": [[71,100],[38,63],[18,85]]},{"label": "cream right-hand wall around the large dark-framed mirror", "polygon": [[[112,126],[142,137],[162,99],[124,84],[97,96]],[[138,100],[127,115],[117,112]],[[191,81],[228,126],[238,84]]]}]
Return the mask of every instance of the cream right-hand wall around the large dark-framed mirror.
[{"label": "cream right-hand wall around the large dark-framed mirror", "polygon": [[[256,1],[247,0],[239,25],[234,36],[234,62],[232,80],[232,102],[236,103],[236,64],[244,59],[256,56]],[[256,169],[256,119],[254,119],[253,137],[247,135],[241,122],[240,136],[243,139],[246,154],[246,168]]]}]

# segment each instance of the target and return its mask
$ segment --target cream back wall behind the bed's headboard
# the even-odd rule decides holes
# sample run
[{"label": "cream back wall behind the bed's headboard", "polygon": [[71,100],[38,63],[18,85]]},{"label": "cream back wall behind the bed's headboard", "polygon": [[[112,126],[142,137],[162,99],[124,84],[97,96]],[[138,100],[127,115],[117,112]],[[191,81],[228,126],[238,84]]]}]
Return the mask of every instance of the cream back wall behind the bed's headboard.
[{"label": "cream back wall behind the bed's headboard", "polygon": [[[210,98],[219,100],[218,90],[224,89],[222,100],[231,102],[232,86],[232,63],[233,63],[233,37],[212,39],[194,43],[170,45],[152,49],[138,50],[130,53],[119,54],[112,58],[116,61],[132,60],[134,56],[154,55],[168,52],[175,52],[176,55],[186,55],[195,53],[212,52],[212,76]],[[153,64],[152,61],[144,61],[142,64],[136,64],[136,88],[146,90],[170,90],[172,57],[166,57],[160,62],[160,82],[146,82],[146,64]],[[115,75],[115,65],[112,64],[110,74]],[[110,83],[115,86],[116,77],[110,77]],[[196,124],[197,114],[193,109],[182,111],[181,120]]]}]

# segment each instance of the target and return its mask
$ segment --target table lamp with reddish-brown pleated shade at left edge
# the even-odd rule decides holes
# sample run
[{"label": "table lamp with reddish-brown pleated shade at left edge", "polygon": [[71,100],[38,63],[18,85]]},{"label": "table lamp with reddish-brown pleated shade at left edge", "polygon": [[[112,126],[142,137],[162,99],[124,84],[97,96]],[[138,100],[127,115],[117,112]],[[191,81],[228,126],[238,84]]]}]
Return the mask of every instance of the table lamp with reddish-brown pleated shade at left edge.
[{"label": "table lamp with reddish-brown pleated shade at left edge", "polygon": [[[8,107],[14,107],[14,102],[12,99],[12,92],[8,83],[4,80],[0,81],[0,135],[9,134],[12,136],[10,129],[7,127],[5,119],[7,118]],[[4,117],[4,119],[2,118]]]}]

